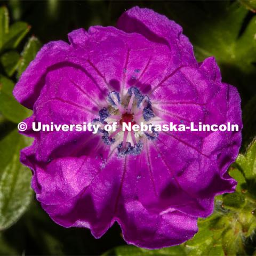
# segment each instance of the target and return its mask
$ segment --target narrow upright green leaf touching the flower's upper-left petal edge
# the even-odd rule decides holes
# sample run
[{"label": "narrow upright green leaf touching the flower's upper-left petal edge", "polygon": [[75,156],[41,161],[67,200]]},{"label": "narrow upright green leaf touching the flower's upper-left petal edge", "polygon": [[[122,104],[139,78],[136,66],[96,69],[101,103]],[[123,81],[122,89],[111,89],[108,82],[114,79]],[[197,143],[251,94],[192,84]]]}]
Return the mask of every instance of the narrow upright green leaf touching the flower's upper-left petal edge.
[{"label": "narrow upright green leaf touching the flower's upper-left petal edge", "polygon": [[36,53],[41,48],[41,42],[34,36],[29,38],[29,41],[25,45],[23,52],[21,53],[22,59],[18,67],[18,77],[25,71],[30,61],[34,60]]}]

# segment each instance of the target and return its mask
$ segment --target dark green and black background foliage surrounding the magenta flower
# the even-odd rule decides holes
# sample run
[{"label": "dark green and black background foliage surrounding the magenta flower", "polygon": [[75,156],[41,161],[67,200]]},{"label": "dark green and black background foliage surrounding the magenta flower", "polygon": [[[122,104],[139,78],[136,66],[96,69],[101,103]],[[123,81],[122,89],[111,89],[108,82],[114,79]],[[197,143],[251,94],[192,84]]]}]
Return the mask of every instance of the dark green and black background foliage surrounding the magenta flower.
[{"label": "dark green and black background foliage surrounding the magenta flower", "polygon": [[[243,107],[243,146],[237,162],[230,168],[230,174],[238,180],[236,193],[233,196],[225,195],[217,198],[213,216],[199,223],[200,231],[193,240],[185,245],[158,251],[123,246],[125,242],[118,225],[114,225],[100,239],[94,239],[87,229],[62,228],[48,217],[33,198],[34,194],[27,186],[30,177],[26,178],[27,183],[17,182],[25,179],[22,178],[21,170],[22,172],[29,170],[22,169],[17,162],[19,149],[22,143],[27,142],[18,143],[23,139],[20,139],[16,125],[29,113],[26,109],[19,109],[19,106],[13,102],[14,99],[11,98],[13,83],[17,82],[18,76],[34,58],[41,43],[59,39],[67,41],[67,34],[76,28],[87,29],[93,25],[115,26],[118,17],[135,5],[149,7],[178,22],[193,44],[198,61],[214,56],[221,68],[223,82],[238,88]],[[14,31],[16,34],[12,31],[15,34],[14,44],[1,46],[2,49],[0,47],[0,113],[2,113],[0,114],[0,160],[7,177],[11,177],[9,170],[11,167],[14,166],[17,170],[13,172],[13,177],[16,178],[12,180],[5,178],[0,171],[1,255],[101,255],[105,252],[106,255],[252,255],[253,253],[255,255],[256,147],[253,138],[256,131],[256,16],[254,13],[256,4],[254,0],[239,2],[12,0],[1,1],[0,6],[6,6],[6,10],[9,11],[10,25],[20,21],[26,22],[23,25],[19,24],[20,34],[17,32],[18,29]],[[0,28],[0,32],[1,29],[3,28]],[[8,78],[9,82],[6,82],[5,78]],[[20,145],[18,148],[17,143]],[[249,145],[251,147],[247,149]],[[6,160],[9,158],[10,162],[16,164],[10,167]],[[7,184],[5,187],[4,182]],[[27,194],[19,198],[13,196],[16,195],[15,193]],[[9,197],[6,196],[7,194]],[[10,207],[12,202],[15,206],[13,208]],[[22,205],[17,202],[22,202]]]}]

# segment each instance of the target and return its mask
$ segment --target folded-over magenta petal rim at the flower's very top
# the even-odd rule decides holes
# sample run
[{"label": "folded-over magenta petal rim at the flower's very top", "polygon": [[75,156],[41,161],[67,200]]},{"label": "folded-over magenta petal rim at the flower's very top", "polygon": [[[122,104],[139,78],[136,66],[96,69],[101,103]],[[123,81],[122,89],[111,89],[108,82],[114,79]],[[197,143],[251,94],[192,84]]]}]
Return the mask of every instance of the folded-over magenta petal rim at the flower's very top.
[{"label": "folded-over magenta petal rim at the flower's very top", "polygon": [[139,33],[149,41],[168,45],[174,65],[197,65],[193,47],[182,34],[182,28],[164,15],[136,6],[121,15],[117,28],[127,33]]}]

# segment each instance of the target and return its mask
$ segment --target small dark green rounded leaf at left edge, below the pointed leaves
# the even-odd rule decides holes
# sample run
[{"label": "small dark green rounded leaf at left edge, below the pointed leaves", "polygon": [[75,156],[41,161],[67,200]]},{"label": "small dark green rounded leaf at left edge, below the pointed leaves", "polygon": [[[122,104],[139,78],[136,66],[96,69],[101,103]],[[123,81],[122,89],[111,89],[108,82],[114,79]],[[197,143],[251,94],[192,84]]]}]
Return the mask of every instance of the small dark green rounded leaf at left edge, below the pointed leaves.
[{"label": "small dark green rounded leaf at left edge, below the pointed leaves", "polygon": [[15,70],[18,68],[20,61],[20,54],[16,51],[9,51],[1,55],[0,63],[7,74],[12,76]]}]

